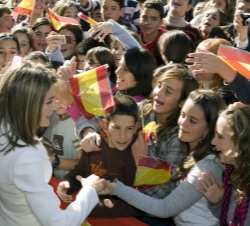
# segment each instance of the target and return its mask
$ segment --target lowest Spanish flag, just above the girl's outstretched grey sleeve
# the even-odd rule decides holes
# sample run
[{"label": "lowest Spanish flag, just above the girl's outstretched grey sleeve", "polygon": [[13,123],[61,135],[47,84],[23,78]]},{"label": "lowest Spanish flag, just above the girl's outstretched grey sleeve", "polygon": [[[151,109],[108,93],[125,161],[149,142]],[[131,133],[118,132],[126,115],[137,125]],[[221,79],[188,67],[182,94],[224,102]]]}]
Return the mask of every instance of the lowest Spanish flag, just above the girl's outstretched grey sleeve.
[{"label": "lowest Spanish flag, just above the girl's outstretched grey sleeve", "polygon": [[136,171],[134,186],[140,186],[139,190],[147,185],[155,186],[169,181],[172,174],[171,166],[159,159],[149,156],[140,156]]}]

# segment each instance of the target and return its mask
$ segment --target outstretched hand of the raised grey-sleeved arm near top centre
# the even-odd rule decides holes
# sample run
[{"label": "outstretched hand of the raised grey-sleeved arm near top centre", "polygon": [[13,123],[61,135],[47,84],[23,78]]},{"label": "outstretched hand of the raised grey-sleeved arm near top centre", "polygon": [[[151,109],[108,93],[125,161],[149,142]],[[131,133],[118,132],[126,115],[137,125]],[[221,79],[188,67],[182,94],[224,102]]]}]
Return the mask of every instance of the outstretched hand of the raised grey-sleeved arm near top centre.
[{"label": "outstretched hand of the raised grey-sleeved arm near top centre", "polygon": [[100,22],[92,27],[88,33],[94,39],[99,39],[99,42],[103,42],[104,38],[112,33],[112,29],[113,24],[111,22]]}]

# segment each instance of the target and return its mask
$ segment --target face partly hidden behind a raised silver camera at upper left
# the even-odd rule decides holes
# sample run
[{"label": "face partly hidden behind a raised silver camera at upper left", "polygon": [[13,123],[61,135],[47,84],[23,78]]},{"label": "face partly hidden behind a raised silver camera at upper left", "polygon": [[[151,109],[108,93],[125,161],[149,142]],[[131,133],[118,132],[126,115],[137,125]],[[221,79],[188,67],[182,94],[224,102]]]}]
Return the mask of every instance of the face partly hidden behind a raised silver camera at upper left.
[{"label": "face partly hidden behind a raised silver camera at upper left", "polygon": [[64,44],[61,46],[62,55],[64,58],[67,58],[76,52],[76,47],[77,47],[76,37],[71,31],[67,29],[61,30],[59,34],[71,37],[71,42],[72,42],[71,44]]}]

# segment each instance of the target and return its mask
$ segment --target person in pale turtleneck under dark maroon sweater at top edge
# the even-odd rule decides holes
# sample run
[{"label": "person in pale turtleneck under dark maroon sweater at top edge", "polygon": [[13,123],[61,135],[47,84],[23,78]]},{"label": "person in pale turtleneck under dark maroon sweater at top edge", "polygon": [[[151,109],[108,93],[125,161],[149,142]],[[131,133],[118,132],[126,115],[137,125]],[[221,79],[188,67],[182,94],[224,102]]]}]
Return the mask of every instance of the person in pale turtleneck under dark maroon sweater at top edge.
[{"label": "person in pale turtleneck under dark maroon sweater at top edge", "polygon": [[192,0],[169,0],[168,5],[169,12],[163,19],[161,29],[182,30],[196,45],[200,41],[200,33],[196,27],[185,21],[185,14],[192,7]]}]

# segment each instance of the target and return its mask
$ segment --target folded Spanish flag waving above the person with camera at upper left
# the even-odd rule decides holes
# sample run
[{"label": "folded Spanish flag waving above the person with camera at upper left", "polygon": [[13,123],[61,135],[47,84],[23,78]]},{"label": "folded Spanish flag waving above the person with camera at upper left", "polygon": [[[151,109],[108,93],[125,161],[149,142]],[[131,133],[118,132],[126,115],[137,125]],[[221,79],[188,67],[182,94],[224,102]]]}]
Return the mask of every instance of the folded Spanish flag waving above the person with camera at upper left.
[{"label": "folded Spanish flag waving above the person with camera at upper left", "polygon": [[53,13],[50,9],[49,9],[49,16],[50,16],[51,23],[56,31],[59,31],[61,28],[63,28],[67,24],[76,25],[76,26],[79,25],[79,22],[77,20],[74,20],[70,17],[58,16],[55,13]]}]

